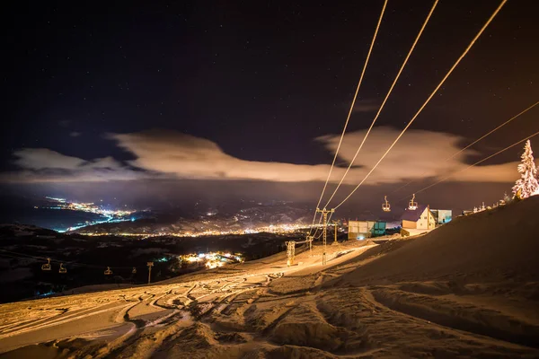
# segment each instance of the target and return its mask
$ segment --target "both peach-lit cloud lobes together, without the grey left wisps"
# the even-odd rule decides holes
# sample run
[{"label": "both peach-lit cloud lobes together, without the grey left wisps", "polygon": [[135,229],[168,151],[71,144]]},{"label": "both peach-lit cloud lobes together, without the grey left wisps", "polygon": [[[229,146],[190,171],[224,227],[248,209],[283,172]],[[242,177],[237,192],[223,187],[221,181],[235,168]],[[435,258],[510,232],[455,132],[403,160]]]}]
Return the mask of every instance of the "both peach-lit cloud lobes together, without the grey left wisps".
[{"label": "both peach-lit cloud lobes together, without the grey left wisps", "polygon": [[[358,156],[354,167],[344,181],[355,184],[367,174],[385,149],[400,133],[391,127],[375,128]],[[366,131],[357,131],[344,137],[340,160],[349,163]],[[134,154],[129,162],[134,167],[167,173],[182,179],[270,180],[281,182],[322,181],[330,170],[326,164],[300,165],[282,162],[252,162],[234,158],[208,139],[173,131],[152,130],[137,134],[110,134],[119,147]],[[321,136],[316,141],[335,153],[340,136]],[[369,178],[369,183],[394,183],[424,177],[440,177],[462,170],[466,156],[476,154],[464,151],[450,161],[444,161],[460,148],[461,136],[440,132],[410,130]],[[467,180],[508,181],[516,172],[510,166],[485,166],[468,170]],[[497,176],[488,176],[496,170]],[[339,181],[345,169],[333,170],[331,181]],[[458,178],[456,179],[458,180]]]}]

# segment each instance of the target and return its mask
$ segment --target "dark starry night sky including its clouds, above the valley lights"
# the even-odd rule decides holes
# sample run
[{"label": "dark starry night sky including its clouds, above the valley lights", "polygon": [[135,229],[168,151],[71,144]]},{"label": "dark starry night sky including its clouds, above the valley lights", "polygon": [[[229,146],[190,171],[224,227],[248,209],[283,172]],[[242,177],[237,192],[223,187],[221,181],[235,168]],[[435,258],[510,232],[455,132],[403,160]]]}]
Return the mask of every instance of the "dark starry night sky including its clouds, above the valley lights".
[{"label": "dark starry night sky including its clouds, above the valley lights", "polygon": [[[354,134],[370,125],[432,4],[389,1],[350,119],[352,153],[361,140]],[[121,193],[142,202],[182,189],[314,206],[382,5],[12,2],[2,25],[4,188],[75,197]],[[358,176],[352,173],[348,185],[376,162],[376,151],[393,141],[498,5],[439,2],[376,122],[379,136],[372,147],[367,140],[365,162],[358,159]],[[432,182],[445,171],[439,162],[447,155],[539,101],[538,10],[534,0],[508,1],[353,206],[379,206],[384,193],[409,178]],[[535,133],[538,118],[539,106],[446,170]],[[438,144],[446,144],[439,161],[430,151]],[[532,144],[539,151],[539,136]],[[521,148],[482,164],[516,162]],[[420,158],[429,161],[415,168]],[[208,170],[214,162],[216,170]],[[424,171],[432,173],[420,176]],[[493,180],[499,172],[491,173],[471,172],[422,199],[459,208],[493,202],[512,180]]]}]

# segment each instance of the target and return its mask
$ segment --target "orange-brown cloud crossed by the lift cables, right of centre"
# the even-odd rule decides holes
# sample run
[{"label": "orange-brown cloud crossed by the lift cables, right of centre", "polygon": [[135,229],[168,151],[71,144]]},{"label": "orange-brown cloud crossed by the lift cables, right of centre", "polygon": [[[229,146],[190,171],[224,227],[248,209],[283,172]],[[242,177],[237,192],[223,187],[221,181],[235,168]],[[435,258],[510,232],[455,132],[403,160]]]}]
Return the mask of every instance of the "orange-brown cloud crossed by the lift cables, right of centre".
[{"label": "orange-brown cloud crossed by the lift cables, right of centre", "polygon": [[[360,167],[360,169],[350,171],[349,176],[353,180],[345,181],[345,183],[358,183],[358,180],[362,179],[376,165],[376,162],[384,155],[400,132],[401,130],[393,127],[373,128],[354,162],[354,166]],[[362,130],[344,136],[340,145],[339,158],[346,162],[347,166],[354,158],[358,145],[361,144],[366,134],[367,130]],[[331,153],[335,153],[339,139],[340,136],[316,138]],[[479,154],[468,149],[453,157],[454,153],[460,151],[460,144],[463,142],[462,136],[418,129],[408,130],[393,146],[392,151],[385,156],[384,161],[369,176],[367,183],[394,183],[424,178],[441,180],[454,172],[459,173],[447,180],[510,182],[517,179],[517,171],[515,171],[517,162],[475,166],[463,171],[469,166],[465,162],[466,158]]]}]

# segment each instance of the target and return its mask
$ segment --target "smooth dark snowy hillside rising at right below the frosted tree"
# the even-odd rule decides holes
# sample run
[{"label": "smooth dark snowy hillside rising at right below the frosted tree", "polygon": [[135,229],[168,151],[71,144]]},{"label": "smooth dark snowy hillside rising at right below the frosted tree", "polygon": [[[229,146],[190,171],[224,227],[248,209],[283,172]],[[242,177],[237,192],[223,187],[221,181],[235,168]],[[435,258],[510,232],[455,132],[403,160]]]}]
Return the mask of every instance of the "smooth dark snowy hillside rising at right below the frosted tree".
[{"label": "smooth dark snowy hillside rising at right below the frosted tree", "polygon": [[[353,284],[447,278],[539,281],[539,197],[457,217],[346,276]],[[539,293],[538,293],[539,294]]]}]

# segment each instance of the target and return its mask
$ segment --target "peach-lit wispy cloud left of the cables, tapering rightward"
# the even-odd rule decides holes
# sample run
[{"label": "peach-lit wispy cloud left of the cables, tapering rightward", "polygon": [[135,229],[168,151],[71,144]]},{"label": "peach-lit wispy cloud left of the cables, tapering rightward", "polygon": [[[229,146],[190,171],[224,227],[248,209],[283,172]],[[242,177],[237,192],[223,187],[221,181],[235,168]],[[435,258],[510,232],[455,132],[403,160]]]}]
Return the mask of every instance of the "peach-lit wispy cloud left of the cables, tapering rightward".
[{"label": "peach-lit wispy cloud left of the cables, tapering rightward", "polygon": [[297,182],[325,180],[329,171],[325,164],[244,161],[226,154],[208,139],[174,131],[109,134],[109,138],[137,157],[130,165],[180,179]]}]

